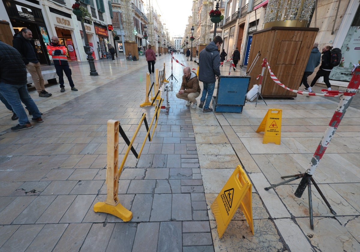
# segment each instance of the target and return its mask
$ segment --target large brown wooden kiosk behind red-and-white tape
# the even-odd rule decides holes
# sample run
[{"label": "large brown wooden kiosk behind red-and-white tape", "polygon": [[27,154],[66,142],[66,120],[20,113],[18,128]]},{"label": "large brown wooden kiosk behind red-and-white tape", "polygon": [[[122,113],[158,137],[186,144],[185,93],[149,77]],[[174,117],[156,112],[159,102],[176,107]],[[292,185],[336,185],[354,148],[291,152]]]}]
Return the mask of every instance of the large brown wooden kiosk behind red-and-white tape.
[{"label": "large brown wooden kiosk behind red-and-white tape", "polygon": [[[258,84],[256,77],[262,70],[262,59],[267,58],[271,71],[287,87],[298,89],[312,45],[319,28],[270,27],[253,33],[249,62],[253,62],[258,51],[257,60],[250,76],[250,86]],[[266,68],[261,89],[263,97],[296,97],[296,93],[288,91],[270,78]]]}]

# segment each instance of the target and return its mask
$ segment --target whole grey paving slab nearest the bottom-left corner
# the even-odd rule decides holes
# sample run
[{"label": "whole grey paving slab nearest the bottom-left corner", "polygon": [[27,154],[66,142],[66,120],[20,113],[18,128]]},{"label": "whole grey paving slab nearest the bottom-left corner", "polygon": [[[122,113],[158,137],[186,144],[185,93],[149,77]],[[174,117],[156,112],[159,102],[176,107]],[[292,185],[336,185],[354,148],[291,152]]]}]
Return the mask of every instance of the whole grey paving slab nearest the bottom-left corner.
[{"label": "whole grey paving slab nearest the bottom-left corner", "polygon": [[0,248],[1,252],[25,251],[44,225],[21,225]]}]

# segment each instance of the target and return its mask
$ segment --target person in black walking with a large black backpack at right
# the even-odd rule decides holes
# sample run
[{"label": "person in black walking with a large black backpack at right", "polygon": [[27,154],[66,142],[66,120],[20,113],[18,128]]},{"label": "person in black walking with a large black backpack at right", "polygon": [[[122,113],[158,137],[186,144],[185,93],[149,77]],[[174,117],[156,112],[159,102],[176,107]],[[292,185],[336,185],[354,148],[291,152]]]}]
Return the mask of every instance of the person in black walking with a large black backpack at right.
[{"label": "person in black walking with a large black backpack at right", "polygon": [[331,85],[330,85],[330,81],[329,81],[329,75],[331,70],[333,69],[333,67],[338,66],[340,64],[341,61],[341,50],[338,48],[338,50],[332,50],[333,47],[332,46],[325,46],[323,48],[323,51],[321,52],[321,54],[323,54],[323,56],[321,57],[321,65],[319,68],[319,71],[316,73],[314,80],[312,80],[310,87],[313,87],[316,84],[316,81],[323,76],[324,77],[324,82],[326,84],[326,86],[328,87],[328,90],[331,90]]}]

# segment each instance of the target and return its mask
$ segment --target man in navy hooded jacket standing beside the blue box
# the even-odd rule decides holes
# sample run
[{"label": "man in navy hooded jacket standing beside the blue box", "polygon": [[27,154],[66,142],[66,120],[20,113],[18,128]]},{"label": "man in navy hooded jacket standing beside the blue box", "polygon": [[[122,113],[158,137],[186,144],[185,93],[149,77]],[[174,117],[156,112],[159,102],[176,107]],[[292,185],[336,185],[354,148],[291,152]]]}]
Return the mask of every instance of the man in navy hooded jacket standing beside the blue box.
[{"label": "man in navy hooded jacket standing beside the blue box", "polygon": [[216,79],[220,76],[220,54],[218,50],[221,44],[222,38],[215,36],[213,41],[199,53],[199,81],[203,82],[203,93],[199,108],[203,108],[203,113],[212,111],[209,105],[214,93]]}]

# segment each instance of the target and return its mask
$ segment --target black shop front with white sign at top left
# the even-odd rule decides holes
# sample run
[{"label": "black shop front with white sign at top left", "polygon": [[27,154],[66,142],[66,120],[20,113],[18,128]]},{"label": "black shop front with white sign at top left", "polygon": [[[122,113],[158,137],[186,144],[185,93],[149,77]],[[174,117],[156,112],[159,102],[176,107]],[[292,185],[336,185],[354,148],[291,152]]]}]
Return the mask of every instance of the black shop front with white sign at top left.
[{"label": "black shop front with white sign at top left", "polygon": [[[40,8],[25,4],[22,1],[3,0],[6,12],[14,29],[14,34],[22,28],[28,28],[32,32],[35,48],[40,57],[40,64],[50,65],[50,59],[46,45],[50,43],[50,36],[46,28],[44,16]],[[40,7],[40,6],[39,6]]]}]

